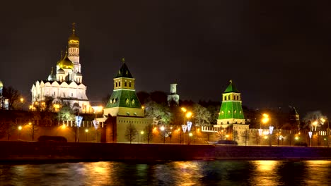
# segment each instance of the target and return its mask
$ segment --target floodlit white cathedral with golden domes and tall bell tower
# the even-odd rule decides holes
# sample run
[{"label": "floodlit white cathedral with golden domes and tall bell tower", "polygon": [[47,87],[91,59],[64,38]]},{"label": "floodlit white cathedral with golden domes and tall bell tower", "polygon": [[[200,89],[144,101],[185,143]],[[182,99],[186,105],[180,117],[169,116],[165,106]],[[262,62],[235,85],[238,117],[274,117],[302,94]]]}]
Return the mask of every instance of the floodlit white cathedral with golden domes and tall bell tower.
[{"label": "floodlit white cathedral with golden domes and tall bell tower", "polygon": [[[90,101],[83,85],[81,63],[79,63],[79,37],[76,36],[75,23],[68,39],[64,56],[57,61],[57,72],[53,68],[47,80],[37,80],[31,88],[32,104],[30,109],[45,109],[45,101],[52,100],[53,111],[59,111],[62,105],[69,104],[80,113],[93,113]],[[43,108],[44,107],[44,108]]]}]

